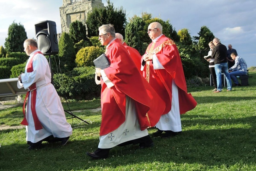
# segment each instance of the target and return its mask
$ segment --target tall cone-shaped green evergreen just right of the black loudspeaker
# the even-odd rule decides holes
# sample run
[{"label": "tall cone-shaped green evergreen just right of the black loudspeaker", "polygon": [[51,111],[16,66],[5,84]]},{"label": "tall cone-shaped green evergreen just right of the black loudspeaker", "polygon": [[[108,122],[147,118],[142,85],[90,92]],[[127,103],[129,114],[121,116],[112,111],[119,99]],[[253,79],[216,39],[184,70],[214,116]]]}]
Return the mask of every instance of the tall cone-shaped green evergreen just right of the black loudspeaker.
[{"label": "tall cone-shaped green evergreen just right of the black loudspeaker", "polygon": [[75,48],[69,34],[63,32],[59,39],[59,63],[62,72],[71,71],[75,67]]}]

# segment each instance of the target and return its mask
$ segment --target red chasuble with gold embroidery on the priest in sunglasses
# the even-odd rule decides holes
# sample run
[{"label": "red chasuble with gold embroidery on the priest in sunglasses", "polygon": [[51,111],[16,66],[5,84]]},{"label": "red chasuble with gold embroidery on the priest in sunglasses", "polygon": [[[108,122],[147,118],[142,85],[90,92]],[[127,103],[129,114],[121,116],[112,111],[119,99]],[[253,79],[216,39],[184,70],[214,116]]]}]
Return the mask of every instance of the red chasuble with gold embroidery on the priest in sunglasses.
[{"label": "red chasuble with gold embroidery on the priest in sunglasses", "polygon": [[171,110],[172,80],[174,80],[179,91],[180,114],[194,109],[197,102],[191,94],[187,93],[180,54],[173,40],[165,37],[165,35],[161,35],[155,43],[152,42],[148,45],[146,53],[155,54],[165,68],[154,70],[152,61],[147,61],[143,70],[143,76],[147,82],[150,83],[166,103],[164,113],[168,113]]}]

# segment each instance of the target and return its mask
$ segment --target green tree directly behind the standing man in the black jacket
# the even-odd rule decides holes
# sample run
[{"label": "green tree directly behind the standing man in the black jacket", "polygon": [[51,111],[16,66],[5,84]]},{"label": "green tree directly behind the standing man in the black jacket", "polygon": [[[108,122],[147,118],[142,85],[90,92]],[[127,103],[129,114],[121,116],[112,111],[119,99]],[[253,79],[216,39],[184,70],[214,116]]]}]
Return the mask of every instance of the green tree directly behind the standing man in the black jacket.
[{"label": "green tree directly behind the standing man in the black jacket", "polygon": [[206,26],[202,26],[200,32],[198,33],[199,36],[194,36],[193,39],[195,40],[194,46],[195,49],[200,53],[200,56],[203,57],[207,55],[209,51],[209,42],[214,39],[213,33],[210,29]]}]

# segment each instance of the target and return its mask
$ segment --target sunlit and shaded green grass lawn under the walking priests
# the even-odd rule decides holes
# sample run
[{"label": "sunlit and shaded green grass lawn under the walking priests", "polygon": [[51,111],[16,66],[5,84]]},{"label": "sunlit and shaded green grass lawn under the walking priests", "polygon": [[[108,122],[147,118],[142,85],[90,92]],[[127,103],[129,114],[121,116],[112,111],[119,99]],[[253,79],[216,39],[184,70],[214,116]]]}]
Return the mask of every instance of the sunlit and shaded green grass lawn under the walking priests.
[{"label": "sunlit and shaded green grass lawn under the walking priests", "polygon": [[[154,147],[114,147],[110,157],[93,160],[99,143],[100,99],[64,102],[65,110],[91,124],[72,118],[67,145],[43,143],[29,151],[25,128],[0,131],[0,170],[256,170],[256,72],[249,86],[213,93],[213,87],[189,88],[198,105],[181,115],[183,132],[169,139],[154,138]],[[71,115],[66,114],[67,118]],[[0,111],[0,126],[17,126],[22,106]],[[149,129],[152,134],[155,129]]]}]

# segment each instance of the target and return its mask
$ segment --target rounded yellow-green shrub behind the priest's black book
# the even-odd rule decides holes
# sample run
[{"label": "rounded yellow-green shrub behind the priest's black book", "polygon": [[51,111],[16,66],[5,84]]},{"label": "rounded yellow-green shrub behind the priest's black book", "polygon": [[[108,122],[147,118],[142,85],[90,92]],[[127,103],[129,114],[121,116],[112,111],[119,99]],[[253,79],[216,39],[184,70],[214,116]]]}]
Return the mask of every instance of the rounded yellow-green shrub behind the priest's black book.
[{"label": "rounded yellow-green shrub behind the priest's black book", "polygon": [[75,58],[77,67],[94,66],[93,60],[100,56],[104,51],[100,47],[89,46],[80,49]]}]

